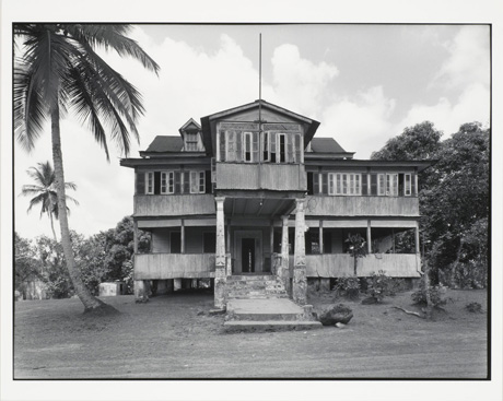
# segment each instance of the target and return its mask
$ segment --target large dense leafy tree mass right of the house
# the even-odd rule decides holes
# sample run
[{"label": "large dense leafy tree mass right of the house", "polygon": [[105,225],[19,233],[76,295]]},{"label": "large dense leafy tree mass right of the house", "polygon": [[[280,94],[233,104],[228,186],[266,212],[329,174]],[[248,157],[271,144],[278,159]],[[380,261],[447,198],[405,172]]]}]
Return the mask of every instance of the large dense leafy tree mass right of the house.
[{"label": "large dense leafy tree mass right of the house", "polygon": [[[426,239],[430,271],[458,280],[458,268],[477,267],[477,283],[487,274],[489,217],[489,129],[479,122],[465,123],[458,132],[440,142],[441,133],[431,122],[406,128],[389,140],[373,158],[425,160],[435,163],[420,173],[419,207]],[[477,233],[476,235],[473,233]],[[466,269],[465,269],[466,270]],[[486,273],[484,273],[486,272]]]}]

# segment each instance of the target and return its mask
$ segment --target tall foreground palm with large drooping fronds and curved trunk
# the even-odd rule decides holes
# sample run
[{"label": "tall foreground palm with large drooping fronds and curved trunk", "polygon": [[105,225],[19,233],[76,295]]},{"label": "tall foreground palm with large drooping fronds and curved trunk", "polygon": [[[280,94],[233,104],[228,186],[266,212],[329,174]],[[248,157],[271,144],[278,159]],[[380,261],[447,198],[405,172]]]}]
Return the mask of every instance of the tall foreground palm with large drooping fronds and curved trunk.
[{"label": "tall foreground palm with large drooping fronds and curved trunk", "polygon": [[95,49],[112,48],[157,73],[155,61],[125,36],[130,30],[130,25],[112,24],[14,24],[14,40],[19,40],[14,52],[21,52],[14,63],[14,133],[21,145],[31,151],[43,133],[45,119],[50,119],[61,244],[70,278],[85,311],[101,309],[105,304],[91,295],[75,268],[59,121],[68,111],[74,111],[89,125],[109,161],[106,123],[112,139],[128,155],[130,133],[139,140],[136,122],[143,114],[141,95]]}]

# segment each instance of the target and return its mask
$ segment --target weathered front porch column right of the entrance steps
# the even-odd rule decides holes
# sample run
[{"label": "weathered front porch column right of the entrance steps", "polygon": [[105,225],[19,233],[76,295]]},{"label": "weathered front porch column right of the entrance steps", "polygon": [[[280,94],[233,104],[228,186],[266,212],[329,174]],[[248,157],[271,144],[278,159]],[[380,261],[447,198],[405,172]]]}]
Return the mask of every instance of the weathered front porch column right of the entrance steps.
[{"label": "weathered front porch column right of the entrance steps", "polygon": [[306,278],[306,252],[305,252],[305,199],[295,199],[295,253],[293,257],[293,300],[300,305],[306,303],[307,278]]}]

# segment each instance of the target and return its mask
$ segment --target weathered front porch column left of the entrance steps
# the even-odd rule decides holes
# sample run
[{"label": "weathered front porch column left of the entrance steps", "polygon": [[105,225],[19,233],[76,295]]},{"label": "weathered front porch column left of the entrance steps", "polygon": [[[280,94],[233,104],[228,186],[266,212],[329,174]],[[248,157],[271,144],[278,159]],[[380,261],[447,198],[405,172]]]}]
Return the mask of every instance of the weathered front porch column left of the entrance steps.
[{"label": "weathered front porch column left of the entrance steps", "polygon": [[225,227],[223,215],[223,202],[225,198],[217,197],[217,255],[214,269],[214,306],[224,308],[225,303],[225,286],[227,274],[225,271]]}]

